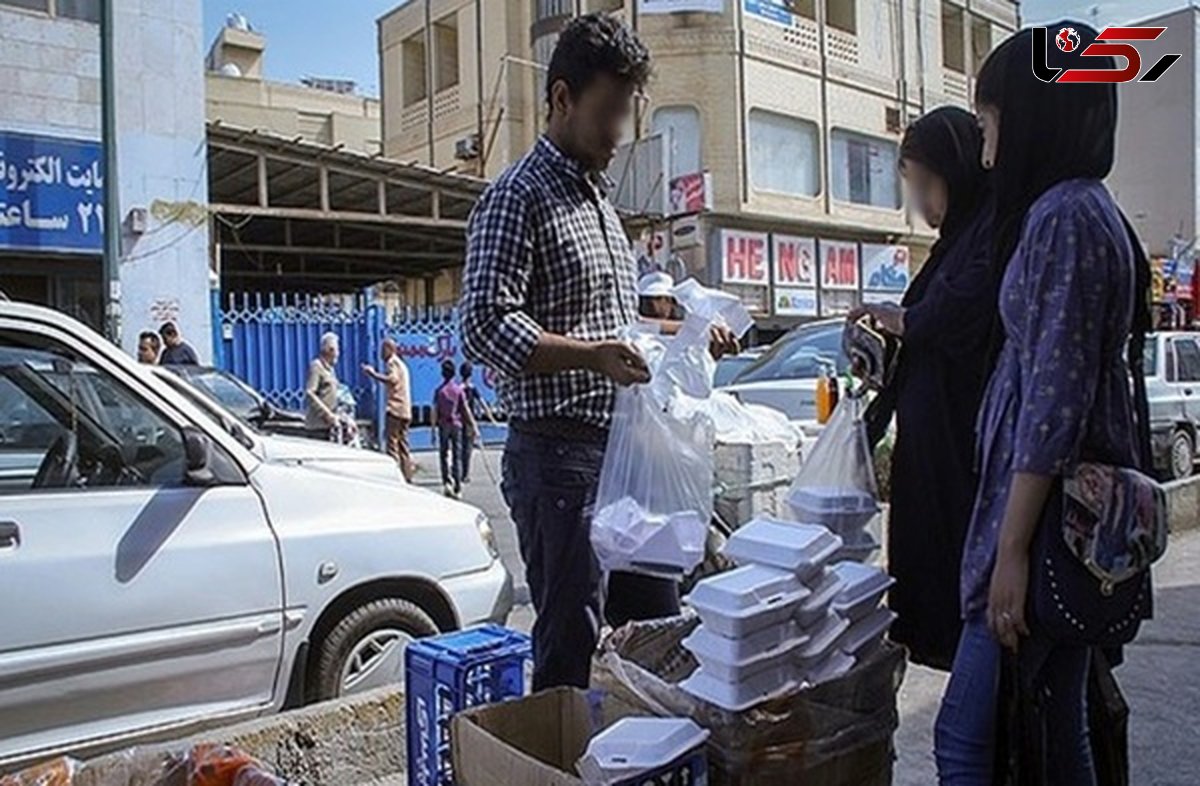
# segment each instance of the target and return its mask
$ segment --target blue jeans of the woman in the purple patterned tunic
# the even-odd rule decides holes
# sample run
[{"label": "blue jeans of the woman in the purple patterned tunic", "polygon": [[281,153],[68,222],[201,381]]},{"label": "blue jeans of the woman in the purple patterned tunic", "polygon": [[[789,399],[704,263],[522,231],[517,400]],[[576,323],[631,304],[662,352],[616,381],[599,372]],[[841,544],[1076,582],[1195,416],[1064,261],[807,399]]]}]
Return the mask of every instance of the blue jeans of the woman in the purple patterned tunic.
[{"label": "blue jeans of the woman in the purple patterned tunic", "polygon": [[[937,713],[935,754],[941,786],[991,786],[996,766],[1001,646],[988,620],[973,617],[962,628],[954,670]],[[1087,732],[1088,650],[1021,641],[1021,673],[1048,691],[1045,704],[1048,772],[1055,786],[1096,786]]]}]

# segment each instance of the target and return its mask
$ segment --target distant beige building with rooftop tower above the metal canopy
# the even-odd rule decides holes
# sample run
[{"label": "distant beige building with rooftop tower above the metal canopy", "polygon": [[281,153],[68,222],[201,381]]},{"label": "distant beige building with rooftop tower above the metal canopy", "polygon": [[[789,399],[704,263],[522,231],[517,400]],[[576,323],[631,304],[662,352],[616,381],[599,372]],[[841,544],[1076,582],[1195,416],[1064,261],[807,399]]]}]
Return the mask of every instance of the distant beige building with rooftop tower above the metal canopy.
[{"label": "distant beige building with rooftop tower above the metal canopy", "polygon": [[263,78],[266,38],[233,16],[205,61],[206,115],[240,128],[299,137],[367,155],[379,154],[379,101],[356,95],[353,82],[305,79],[302,84]]}]

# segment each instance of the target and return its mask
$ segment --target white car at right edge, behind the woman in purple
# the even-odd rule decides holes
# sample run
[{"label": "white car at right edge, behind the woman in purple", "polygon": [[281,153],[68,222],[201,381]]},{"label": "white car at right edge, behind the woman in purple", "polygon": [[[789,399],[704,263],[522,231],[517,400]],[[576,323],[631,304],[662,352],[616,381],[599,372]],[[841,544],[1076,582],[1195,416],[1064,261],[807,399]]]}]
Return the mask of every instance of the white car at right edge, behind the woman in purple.
[{"label": "white car at right edge, behind the woman in purple", "polygon": [[1200,445],[1200,334],[1148,336],[1145,372],[1156,469],[1171,480],[1189,478]]}]

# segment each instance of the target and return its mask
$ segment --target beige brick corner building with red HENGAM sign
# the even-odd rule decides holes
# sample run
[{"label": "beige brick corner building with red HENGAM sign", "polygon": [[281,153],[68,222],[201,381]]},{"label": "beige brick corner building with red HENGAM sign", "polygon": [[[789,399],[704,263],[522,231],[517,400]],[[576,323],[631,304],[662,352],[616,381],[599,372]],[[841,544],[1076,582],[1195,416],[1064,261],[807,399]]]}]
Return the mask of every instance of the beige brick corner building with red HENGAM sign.
[{"label": "beige brick corner building with red HENGAM sign", "polygon": [[674,197],[634,210],[643,263],[738,292],[766,328],[902,288],[931,240],[904,204],[902,130],[967,106],[1018,24],[1009,0],[409,0],[379,20],[384,152],[498,174],[541,131],[539,64],[587,11],[654,56],[629,137],[662,134]]}]

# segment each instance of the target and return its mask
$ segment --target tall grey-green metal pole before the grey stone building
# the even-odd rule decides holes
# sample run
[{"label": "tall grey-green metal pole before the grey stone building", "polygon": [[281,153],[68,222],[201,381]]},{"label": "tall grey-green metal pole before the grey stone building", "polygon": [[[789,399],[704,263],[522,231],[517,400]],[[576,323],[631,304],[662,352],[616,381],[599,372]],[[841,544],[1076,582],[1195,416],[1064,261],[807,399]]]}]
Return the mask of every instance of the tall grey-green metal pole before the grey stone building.
[{"label": "tall grey-green metal pole before the grey stone building", "polygon": [[121,344],[121,206],[116,178],[116,58],[113,31],[118,0],[102,0],[100,102],[104,148],[104,335]]}]

